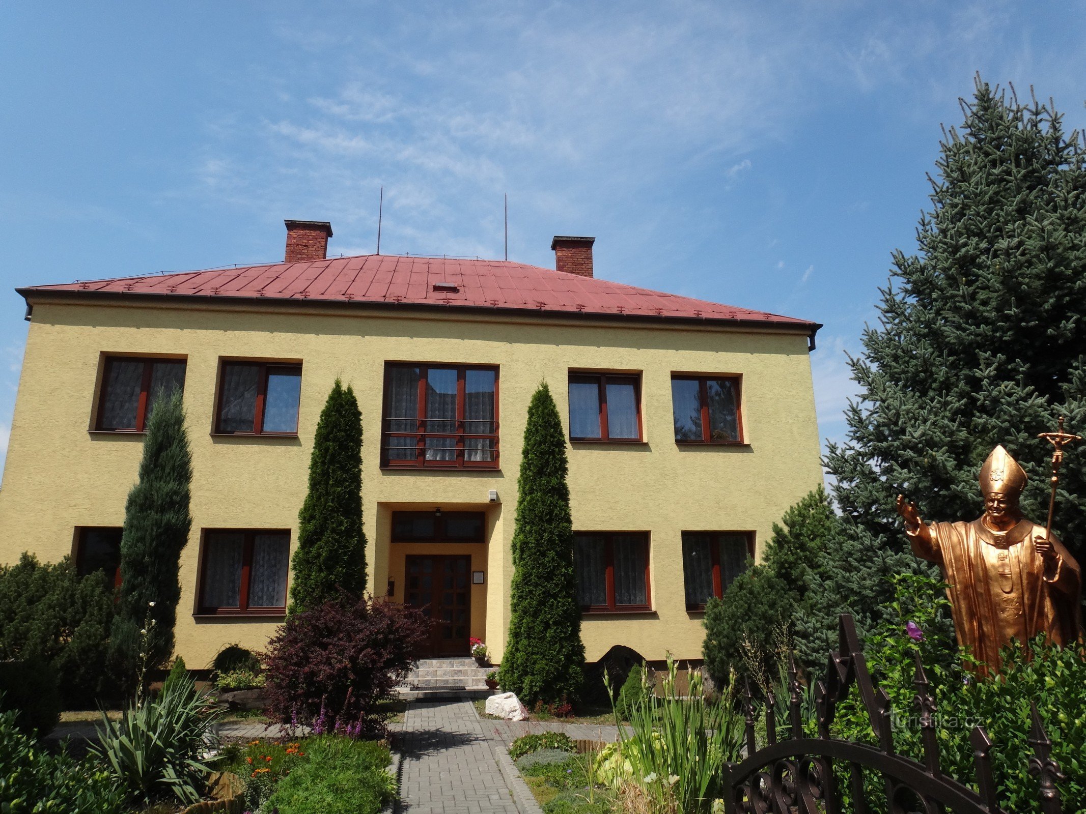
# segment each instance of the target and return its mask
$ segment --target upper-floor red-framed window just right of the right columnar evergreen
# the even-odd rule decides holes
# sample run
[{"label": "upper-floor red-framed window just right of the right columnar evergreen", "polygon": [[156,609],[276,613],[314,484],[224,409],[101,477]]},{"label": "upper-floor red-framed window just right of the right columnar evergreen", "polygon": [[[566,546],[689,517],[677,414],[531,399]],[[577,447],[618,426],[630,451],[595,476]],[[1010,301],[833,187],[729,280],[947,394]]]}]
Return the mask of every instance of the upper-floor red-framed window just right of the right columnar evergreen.
[{"label": "upper-floor red-framed window just right of the right columnar evergreen", "polygon": [[570,441],[641,441],[641,378],[569,373]]}]

